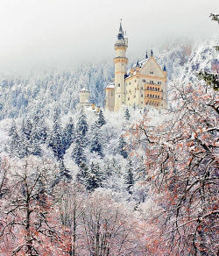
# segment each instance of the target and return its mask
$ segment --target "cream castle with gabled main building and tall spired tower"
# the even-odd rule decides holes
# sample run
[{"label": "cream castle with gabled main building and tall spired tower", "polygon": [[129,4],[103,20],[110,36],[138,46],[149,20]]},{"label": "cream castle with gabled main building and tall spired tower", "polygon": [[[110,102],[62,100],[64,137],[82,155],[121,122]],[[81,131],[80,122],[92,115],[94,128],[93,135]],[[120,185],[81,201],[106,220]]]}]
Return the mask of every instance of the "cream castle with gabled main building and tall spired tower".
[{"label": "cream castle with gabled main building and tall spired tower", "polygon": [[124,37],[120,23],[114,46],[115,79],[105,89],[105,109],[117,111],[123,105],[166,108],[166,66],[160,68],[151,51],[150,57],[146,53],[145,60],[138,61],[127,70],[127,47],[128,39]]}]

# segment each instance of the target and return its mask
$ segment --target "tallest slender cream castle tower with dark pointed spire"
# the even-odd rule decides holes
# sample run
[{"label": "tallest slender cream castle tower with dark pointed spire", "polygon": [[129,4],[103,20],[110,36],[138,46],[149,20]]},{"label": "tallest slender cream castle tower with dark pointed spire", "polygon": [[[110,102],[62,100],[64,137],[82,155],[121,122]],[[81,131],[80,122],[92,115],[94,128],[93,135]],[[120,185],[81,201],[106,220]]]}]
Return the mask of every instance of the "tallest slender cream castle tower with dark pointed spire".
[{"label": "tallest slender cream castle tower with dark pointed spire", "polygon": [[120,110],[121,106],[125,104],[125,83],[124,75],[126,75],[126,65],[128,59],[125,57],[126,49],[128,47],[128,39],[124,38],[124,31],[120,22],[117,41],[114,46],[116,57],[115,63],[115,106],[114,111]]}]

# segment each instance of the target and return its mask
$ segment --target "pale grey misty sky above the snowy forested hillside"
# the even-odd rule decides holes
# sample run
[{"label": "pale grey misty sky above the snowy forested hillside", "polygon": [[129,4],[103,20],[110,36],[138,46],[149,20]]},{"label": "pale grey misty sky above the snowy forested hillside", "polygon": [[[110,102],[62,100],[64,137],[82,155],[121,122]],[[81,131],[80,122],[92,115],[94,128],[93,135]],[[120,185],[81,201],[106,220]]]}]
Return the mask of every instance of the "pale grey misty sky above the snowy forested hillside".
[{"label": "pale grey misty sky above the snowy forested hillside", "polygon": [[218,32],[217,0],[0,0],[0,68],[65,66],[113,57],[119,20],[129,55]]}]

